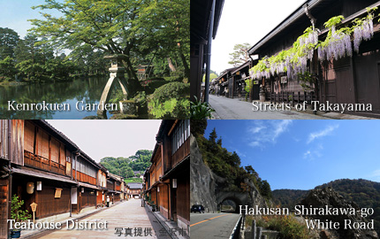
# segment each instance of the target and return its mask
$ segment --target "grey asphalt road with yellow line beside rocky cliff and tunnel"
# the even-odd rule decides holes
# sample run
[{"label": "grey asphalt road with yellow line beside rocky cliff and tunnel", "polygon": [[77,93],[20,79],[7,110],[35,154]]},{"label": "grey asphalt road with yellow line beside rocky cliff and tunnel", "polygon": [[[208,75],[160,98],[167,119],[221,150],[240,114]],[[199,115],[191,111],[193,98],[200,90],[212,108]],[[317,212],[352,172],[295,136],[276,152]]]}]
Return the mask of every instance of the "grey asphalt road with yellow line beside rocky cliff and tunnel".
[{"label": "grey asphalt road with yellow line beside rocky cliff and tunnel", "polygon": [[238,213],[191,213],[190,237],[197,239],[230,238],[239,217]]}]

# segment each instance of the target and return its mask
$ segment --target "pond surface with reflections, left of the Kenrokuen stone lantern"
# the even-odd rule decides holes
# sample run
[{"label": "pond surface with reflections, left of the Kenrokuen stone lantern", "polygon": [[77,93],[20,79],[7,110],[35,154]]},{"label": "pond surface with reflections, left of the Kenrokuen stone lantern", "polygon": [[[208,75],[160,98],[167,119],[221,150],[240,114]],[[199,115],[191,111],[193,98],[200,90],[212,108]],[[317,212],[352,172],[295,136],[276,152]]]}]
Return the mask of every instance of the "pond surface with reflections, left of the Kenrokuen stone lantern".
[{"label": "pond surface with reflections, left of the Kenrokuen stone lantern", "polygon": [[[85,104],[99,103],[107,80],[104,77],[9,87],[0,86],[0,119],[83,119],[87,116],[95,116],[96,111],[77,111],[75,104],[78,101],[83,101]],[[37,104],[42,101],[45,101],[46,104],[70,104],[71,111],[8,111],[8,101],[16,101],[18,104]],[[109,112],[107,115],[110,118]]]}]

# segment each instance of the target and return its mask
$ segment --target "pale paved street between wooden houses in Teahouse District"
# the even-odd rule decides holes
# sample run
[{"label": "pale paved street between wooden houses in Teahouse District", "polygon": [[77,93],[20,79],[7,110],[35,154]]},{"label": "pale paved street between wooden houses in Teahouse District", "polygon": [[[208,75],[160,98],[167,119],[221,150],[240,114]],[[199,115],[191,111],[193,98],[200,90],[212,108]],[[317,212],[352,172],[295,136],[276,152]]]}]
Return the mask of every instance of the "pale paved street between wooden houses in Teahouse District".
[{"label": "pale paved street between wooden houses in Teahouse District", "polygon": [[[62,228],[49,234],[39,235],[38,238],[54,239],[54,238],[149,238],[149,239],[170,239],[166,233],[163,233],[163,227],[158,223],[152,212],[146,211],[145,207],[141,207],[140,199],[130,199],[129,201],[117,204],[110,209],[95,213],[80,221],[99,221],[106,220],[108,222],[107,230],[67,230]],[[116,235],[116,228],[122,227],[120,236]],[[125,228],[132,228],[132,235],[125,236]],[[135,229],[138,231],[142,228],[141,235],[134,235]],[[151,228],[152,235],[145,235]],[[161,230],[161,231],[160,231]],[[164,235],[165,234],[165,235]]]}]

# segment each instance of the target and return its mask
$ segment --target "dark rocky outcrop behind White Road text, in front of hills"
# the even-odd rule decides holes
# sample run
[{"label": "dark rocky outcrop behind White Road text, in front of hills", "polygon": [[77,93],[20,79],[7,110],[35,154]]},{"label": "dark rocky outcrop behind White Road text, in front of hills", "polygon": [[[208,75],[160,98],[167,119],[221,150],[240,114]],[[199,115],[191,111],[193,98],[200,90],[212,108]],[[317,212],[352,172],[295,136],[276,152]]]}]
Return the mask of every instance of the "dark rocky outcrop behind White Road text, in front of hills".
[{"label": "dark rocky outcrop behind White Road text, in front of hills", "polygon": [[[369,220],[362,217],[361,209],[358,204],[347,201],[331,187],[323,189],[313,189],[308,192],[308,196],[300,202],[305,208],[329,208],[346,209],[346,212],[310,213],[308,219],[320,220],[324,222],[338,222],[338,229],[329,229],[323,227],[320,230],[321,238],[345,238],[345,239],[376,239],[376,231],[370,226]],[[351,213],[352,212],[352,213]],[[350,225],[350,226],[346,226]],[[366,226],[366,227],[364,227]],[[346,227],[346,228],[345,228]]]}]

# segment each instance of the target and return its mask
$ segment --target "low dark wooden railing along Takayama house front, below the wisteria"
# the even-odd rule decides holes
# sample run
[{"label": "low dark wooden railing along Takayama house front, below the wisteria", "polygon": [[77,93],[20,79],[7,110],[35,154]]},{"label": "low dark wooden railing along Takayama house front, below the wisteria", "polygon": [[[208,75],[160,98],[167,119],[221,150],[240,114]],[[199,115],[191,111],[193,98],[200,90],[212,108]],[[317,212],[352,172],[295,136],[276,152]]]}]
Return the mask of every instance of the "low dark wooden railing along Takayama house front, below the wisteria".
[{"label": "low dark wooden railing along Takayama house front, below the wisteria", "polygon": [[277,104],[277,103],[287,103],[292,104],[293,107],[295,104],[302,104],[304,101],[307,101],[308,104],[311,104],[311,101],[316,100],[316,96],[314,92],[267,92],[266,96],[267,99],[270,99],[270,104]]}]

